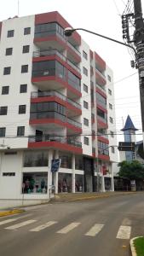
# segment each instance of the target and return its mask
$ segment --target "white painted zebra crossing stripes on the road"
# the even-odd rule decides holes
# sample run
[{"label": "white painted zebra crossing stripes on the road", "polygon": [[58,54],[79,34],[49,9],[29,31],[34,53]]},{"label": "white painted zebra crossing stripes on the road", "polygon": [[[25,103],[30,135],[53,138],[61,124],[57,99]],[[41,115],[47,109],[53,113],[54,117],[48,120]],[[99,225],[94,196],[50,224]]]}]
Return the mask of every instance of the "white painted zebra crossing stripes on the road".
[{"label": "white painted zebra crossing stripes on the road", "polygon": [[[18,222],[15,224],[15,222]],[[35,227],[31,229],[31,224],[35,224]],[[30,232],[39,232],[45,229],[49,229],[49,227],[59,224],[58,221],[50,220],[46,223],[37,224],[37,219],[28,219],[28,220],[22,220],[20,218],[8,218],[0,221],[0,230],[20,230],[25,226],[28,226],[28,231]],[[66,224],[66,226],[63,226],[60,230],[56,230],[56,234],[66,235],[69,232],[72,232],[72,230],[78,229],[78,227],[84,225],[84,223],[80,222],[71,222],[69,224]],[[101,231],[107,224],[99,224],[95,223],[92,226],[89,226],[89,229],[86,233],[83,234],[83,236],[89,236],[89,237],[95,237]],[[131,226],[130,225],[124,225],[122,222],[122,225],[118,227],[116,239],[130,239],[131,234]]]}]

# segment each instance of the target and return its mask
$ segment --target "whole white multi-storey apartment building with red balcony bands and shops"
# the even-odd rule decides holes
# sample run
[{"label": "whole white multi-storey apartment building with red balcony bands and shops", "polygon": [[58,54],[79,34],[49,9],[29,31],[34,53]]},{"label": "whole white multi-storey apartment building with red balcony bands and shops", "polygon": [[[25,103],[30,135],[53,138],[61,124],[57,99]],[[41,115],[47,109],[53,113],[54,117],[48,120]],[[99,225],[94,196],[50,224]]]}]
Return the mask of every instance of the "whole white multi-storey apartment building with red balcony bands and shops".
[{"label": "whole white multi-storey apartment building with red balcony bands and shops", "polygon": [[114,189],[112,70],[78,32],[66,38],[67,26],[58,12],[0,23],[0,202],[9,207],[48,201],[52,186]]}]

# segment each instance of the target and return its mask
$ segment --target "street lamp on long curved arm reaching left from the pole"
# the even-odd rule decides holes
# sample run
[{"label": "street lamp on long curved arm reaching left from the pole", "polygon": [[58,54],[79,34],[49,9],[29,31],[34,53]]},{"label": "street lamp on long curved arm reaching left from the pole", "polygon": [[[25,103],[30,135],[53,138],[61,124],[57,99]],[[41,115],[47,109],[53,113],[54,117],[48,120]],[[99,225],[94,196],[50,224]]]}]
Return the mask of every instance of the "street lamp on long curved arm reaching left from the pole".
[{"label": "street lamp on long curved arm reaching left from the pole", "polygon": [[137,56],[137,55],[136,55],[136,50],[135,50],[135,48],[134,48],[133,46],[129,45],[129,44],[124,44],[123,42],[120,42],[120,41],[118,41],[118,40],[116,40],[116,39],[108,38],[108,37],[106,37],[106,36],[103,36],[103,35],[101,35],[101,34],[92,32],[92,31],[87,30],[87,29],[85,29],[85,28],[66,27],[66,28],[64,29],[64,34],[65,34],[66,37],[71,37],[71,36],[72,36],[72,33],[75,32],[75,31],[77,31],[77,30],[82,30],[82,31],[84,31],[84,32],[89,32],[90,34],[93,34],[93,35],[95,35],[95,36],[98,36],[98,37],[101,37],[101,38],[105,38],[105,39],[110,40],[110,41],[112,41],[112,42],[115,42],[115,43],[117,43],[117,44],[122,44],[122,45],[124,45],[124,46],[126,46],[126,47],[129,47],[129,48],[133,49],[133,50],[134,50],[134,53],[135,53],[135,61],[136,61],[136,59],[137,59],[136,56]]}]

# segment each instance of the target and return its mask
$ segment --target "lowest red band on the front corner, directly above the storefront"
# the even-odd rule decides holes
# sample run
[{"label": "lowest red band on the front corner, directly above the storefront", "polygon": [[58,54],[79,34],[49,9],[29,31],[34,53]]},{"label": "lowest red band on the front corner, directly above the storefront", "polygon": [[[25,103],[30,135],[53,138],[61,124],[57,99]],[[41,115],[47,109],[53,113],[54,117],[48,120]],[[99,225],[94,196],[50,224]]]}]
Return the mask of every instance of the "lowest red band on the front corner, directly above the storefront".
[{"label": "lowest red band on the front corner, directly above the storefront", "polygon": [[70,151],[76,154],[83,154],[83,149],[78,148],[67,143],[59,142],[36,142],[28,143],[28,148],[59,148],[61,150]]}]

